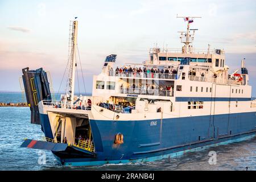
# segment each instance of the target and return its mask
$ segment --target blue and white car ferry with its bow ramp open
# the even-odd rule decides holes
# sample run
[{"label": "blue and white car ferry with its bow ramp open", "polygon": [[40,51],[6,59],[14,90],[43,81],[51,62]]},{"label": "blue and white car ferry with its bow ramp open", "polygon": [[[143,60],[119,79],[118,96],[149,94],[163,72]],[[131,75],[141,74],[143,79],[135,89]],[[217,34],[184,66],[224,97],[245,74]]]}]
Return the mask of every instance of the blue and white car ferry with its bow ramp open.
[{"label": "blue and white car ferry with its bow ramp open", "polygon": [[93,76],[92,96],[75,96],[78,21],[71,21],[68,82],[60,100],[51,96],[42,68],[24,68],[31,123],[43,140],[22,147],[50,150],[61,165],[152,162],[255,137],[256,101],[251,99],[245,60],[230,73],[224,49],[195,49],[197,17],[181,17],[180,49],[150,49],[148,60],[117,67],[106,56]]}]

